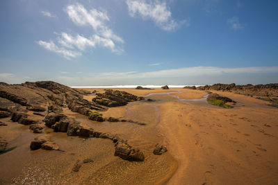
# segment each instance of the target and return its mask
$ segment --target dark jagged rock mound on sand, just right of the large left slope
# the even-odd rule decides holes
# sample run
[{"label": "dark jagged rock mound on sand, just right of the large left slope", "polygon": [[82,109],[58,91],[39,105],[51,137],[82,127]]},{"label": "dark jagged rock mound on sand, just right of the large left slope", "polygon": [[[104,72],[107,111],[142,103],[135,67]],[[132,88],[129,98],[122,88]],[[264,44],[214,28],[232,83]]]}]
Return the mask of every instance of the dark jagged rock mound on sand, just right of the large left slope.
[{"label": "dark jagged rock mound on sand, just right of the large left slope", "polygon": [[129,94],[126,91],[113,91],[112,89],[106,89],[103,94],[98,93],[97,97],[92,98],[93,102],[106,107],[123,106],[136,100],[142,100],[142,97]]}]

